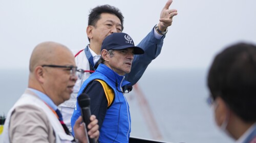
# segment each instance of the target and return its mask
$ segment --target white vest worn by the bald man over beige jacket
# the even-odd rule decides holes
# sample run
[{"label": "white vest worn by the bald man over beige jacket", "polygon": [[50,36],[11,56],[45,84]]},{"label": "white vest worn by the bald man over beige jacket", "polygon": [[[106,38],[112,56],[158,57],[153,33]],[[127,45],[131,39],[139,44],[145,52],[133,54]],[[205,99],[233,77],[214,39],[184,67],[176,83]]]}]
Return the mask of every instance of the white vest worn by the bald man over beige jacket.
[{"label": "white vest worn by the bald man over beige jacket", "polygon": [[26,90],[26,92],[22,95],[22,97],[20,97],[19,100],[10,109],[5,121],[4,131],[2,134],[2,141],[0,142],[3,142],[3,143],[10,142],[10,137],[9,137],[10,118],[14,108],[20,105],[33,105],[44,110],[54,130],[56,143],[71,142],[74,139],[74,137],[66,134],[65,130],[63,129],[62,125],[60,124],[58,118],[53,113],[53,111],[42,100],[40,100],[38,97],[36,97],[36,95],[33,95],[33,94],[34,93]]}]

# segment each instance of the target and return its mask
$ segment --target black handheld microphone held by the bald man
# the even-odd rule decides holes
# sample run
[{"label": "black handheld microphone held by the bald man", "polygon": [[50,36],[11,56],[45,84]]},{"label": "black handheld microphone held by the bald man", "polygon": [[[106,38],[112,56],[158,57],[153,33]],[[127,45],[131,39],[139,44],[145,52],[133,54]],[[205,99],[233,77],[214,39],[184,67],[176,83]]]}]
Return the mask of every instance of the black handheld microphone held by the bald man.
[{"label": "black handheld microphone held by the bald man", "polygon": [[81,109],[81,116],[82,116],[82,120],[83,122],[86,124],[86,134],[89,140],[89,143],[95,143],[95,139],[94,138],[90,138],[90,136],[88,135],[88,125],[91,122],[90,121],[90,117],[91,117],[91,108],[90,108],[90,97],[85,94],[82,93],[78,96],[78,104],[80,106]]}]

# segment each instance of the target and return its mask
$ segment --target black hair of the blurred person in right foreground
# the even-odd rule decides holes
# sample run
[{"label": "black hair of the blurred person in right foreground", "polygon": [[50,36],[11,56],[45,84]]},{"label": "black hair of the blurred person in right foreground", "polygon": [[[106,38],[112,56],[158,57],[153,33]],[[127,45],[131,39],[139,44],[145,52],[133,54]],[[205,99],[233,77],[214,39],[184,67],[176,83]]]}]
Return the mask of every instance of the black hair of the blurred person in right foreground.
[{"label": "black hair of the blurred person in right foreground", "polygon": [[255,122],[256,46],[237,43],[220,52],[210,67],[208,88],[244,122]]}]

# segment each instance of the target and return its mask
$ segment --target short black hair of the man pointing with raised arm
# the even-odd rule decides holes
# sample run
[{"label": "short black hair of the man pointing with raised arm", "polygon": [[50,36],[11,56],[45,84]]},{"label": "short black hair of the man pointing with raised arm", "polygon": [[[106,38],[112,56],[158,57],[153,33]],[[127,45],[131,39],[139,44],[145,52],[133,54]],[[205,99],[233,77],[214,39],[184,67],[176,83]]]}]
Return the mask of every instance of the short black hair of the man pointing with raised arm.
[{"label": "short black hair of the man pointing with raised arm", "polygon": [[[88,18],[88,25],[93,25],[96,26],[97,21],[100,19],[100,15],[102,13],[110,13],[116,15],[120,21],[121,21],[121,31],[123,31],[123,15],[120,12],[120,10],[114,6],[110,5],[102,5],[102,6],[97,6],[93,9],[91,9],[89,18]],[[90,41],[90,39],[89,39]]]}]

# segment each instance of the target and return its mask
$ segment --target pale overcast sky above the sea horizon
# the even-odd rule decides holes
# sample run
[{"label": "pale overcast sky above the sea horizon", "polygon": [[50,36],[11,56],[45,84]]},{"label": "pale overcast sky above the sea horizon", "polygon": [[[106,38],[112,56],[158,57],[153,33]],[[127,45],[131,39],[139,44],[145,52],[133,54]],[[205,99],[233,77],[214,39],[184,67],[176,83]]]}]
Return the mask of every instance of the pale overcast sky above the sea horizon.
[{"label": "pale overcast sky above the sea horizon", "polygon": [[[166,0],[0,0],[1,68],[28,68],[33,48],[55,41],[82,49],[91,8],[110,4],[124,16],[124,33],[138,44],[158,23]],[[256,1],[173,0],[178,15],[151,69],[207,68],[223,47],[238,41],[256,43]]]}]

